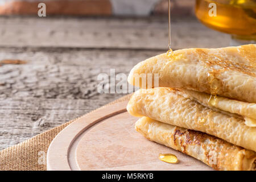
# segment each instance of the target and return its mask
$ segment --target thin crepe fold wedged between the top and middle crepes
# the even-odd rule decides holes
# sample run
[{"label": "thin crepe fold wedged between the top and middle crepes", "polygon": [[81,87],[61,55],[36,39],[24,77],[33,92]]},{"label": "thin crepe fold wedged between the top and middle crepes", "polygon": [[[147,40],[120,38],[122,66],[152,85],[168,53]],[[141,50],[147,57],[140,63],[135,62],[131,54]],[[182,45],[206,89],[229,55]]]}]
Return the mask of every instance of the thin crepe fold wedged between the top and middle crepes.
[{"label": "thin crepe fold wedged between the top and middle crepes", "polygon": [[[207,93],[187,89],[176,90],[181,96],[195,100],[204,106],[210,107],[217,111],[226,111],[237,114],[234,116],[244,119],[245,125],[256,127],[256,104],[254,103],[232,100],[226,97],[213,96]],[[240,115],[242,117],[240,117]]]}]

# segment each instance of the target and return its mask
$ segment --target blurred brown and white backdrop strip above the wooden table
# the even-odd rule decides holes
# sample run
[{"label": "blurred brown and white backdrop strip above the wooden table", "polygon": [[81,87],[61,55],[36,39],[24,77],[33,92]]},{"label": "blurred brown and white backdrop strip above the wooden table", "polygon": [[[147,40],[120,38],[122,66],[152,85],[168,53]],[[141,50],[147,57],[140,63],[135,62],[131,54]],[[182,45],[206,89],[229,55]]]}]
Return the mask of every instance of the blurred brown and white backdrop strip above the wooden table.
[{"label": "blurred brown and white backdrop strip above the wooden table", "polygon": [[[45,3],[48,15],[163,15],[168,0],[1,0],[2,15],[37,15]],[[193,15],[195,0],[171,0],[172,13]]]}]

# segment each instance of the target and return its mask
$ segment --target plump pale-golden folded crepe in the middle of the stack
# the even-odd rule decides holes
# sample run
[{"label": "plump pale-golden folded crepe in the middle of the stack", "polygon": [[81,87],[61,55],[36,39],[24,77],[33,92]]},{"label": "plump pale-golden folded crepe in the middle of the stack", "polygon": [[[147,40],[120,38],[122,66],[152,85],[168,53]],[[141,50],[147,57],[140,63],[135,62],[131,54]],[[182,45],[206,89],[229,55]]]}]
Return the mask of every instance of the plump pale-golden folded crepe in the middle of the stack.
[{"label": "plump pale-golden folded crepe in the middle of the stack", "polygon": [[205,107],[171,88],[141,89],[131,96],[127,111],[160,122],[197,130],[256,151],[256,127],[229,114]]}]

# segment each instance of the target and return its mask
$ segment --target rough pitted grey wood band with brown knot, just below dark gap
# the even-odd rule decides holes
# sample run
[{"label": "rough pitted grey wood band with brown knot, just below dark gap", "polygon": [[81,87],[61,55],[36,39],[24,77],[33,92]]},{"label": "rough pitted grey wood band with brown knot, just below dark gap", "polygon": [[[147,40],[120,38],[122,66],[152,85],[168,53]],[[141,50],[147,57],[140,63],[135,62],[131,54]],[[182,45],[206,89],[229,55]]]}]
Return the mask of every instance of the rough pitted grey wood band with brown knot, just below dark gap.
[{"label": "rough pitted grey wood band with brown knot, just below dark gap", "polygon": [[[129,50],[76,50],[23,51],[0,49],[0,60],[26,60],[27,64],[0,67],[0,98],[74,98],[89,99],[97,96],[100,73],[128,75],[139,61],[161,51]],[[35,52],[33,52],[35,51]],[[7,53],[9,52],[9,53]],[[25,53],[24,53],[25,52]],[[64,52],[64,53],[63,53]]]}]

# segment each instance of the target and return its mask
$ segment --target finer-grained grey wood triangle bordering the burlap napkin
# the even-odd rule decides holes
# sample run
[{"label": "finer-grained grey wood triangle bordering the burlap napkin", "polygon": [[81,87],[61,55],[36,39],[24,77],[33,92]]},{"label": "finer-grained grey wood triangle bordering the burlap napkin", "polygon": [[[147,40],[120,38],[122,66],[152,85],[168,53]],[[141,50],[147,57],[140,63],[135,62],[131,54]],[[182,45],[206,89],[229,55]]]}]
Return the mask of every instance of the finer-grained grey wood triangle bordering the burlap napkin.
[{"label": "finer-grained grey wood triangle bordering the burlap napkin", "polygon": [[0,149],[80,117],[106,102],[108,101],[104,99],[20,98],[0,100]]}]

